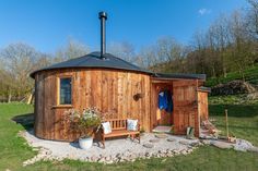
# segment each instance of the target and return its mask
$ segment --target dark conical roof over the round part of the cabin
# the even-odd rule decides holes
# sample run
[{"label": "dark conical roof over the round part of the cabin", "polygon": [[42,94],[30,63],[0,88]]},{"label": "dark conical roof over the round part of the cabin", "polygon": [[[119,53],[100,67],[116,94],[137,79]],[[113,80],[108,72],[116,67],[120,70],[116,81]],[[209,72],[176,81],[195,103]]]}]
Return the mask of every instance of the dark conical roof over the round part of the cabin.
[{"label": "dark conical roof over the round part of the cabin", "polygon": [[35,73],[39,71],[55,70],[55,69],[71,69],[71,68],[118,69],[118,70],[128,70],[128,71],[142,72],[146,74],[153,74],[148,70],[141,69],[110,53],[105,53],[104,58],[105,59],[101,58],[101,52],[92,52],[80,58],[71,59],[64,62],[56,63],[54,65],[37,70],[31,73],[31,76],[34,77]]}]

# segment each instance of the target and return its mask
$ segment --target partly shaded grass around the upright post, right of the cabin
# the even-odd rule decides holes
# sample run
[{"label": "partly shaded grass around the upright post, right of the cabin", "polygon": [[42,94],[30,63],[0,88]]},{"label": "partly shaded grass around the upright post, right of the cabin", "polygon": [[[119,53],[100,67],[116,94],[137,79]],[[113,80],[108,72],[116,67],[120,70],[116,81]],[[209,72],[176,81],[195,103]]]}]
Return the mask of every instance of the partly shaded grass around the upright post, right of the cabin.
[{"label": "partly shaded grass around the upright post, right of the cabin", "polygon": [[225,135],[225,109],[228,111],[230,134],[246,138],[258,146],[258,102],[243,100],[245,95],[210,97],[210,117]]}]

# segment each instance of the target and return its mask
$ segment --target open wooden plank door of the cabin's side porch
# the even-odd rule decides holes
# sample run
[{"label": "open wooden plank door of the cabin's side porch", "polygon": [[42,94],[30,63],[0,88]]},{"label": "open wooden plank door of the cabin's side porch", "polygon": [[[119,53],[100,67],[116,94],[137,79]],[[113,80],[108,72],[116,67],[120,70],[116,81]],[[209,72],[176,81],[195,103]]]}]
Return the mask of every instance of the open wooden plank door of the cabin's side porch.
[{"label": "open wooden plank door of the cabin's side porch", "polygon": [[186,134],[188,126],[195,127],[195,136],[199,136],[199,117],[196,81],[175,81],[173,84],[174,132]]}]

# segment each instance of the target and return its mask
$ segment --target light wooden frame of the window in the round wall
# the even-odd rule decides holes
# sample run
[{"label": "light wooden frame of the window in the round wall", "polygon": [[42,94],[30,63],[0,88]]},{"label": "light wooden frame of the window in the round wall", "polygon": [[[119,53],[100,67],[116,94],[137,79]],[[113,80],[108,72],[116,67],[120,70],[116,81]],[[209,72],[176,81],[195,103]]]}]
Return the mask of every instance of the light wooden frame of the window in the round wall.
[{"label": "light wooden frame of the window in the round wall", "polygon": [[[71,103],[60,103],[60,90],[61,90],[61,80],[62,78],[71,78]],[[72,98],[72,93],[73,93],[73,78],[72,75],[63,75],[63,76],[58,76],[57,77],[57,106],[58,107],[71,107],[73,105],[73,98]]]}]

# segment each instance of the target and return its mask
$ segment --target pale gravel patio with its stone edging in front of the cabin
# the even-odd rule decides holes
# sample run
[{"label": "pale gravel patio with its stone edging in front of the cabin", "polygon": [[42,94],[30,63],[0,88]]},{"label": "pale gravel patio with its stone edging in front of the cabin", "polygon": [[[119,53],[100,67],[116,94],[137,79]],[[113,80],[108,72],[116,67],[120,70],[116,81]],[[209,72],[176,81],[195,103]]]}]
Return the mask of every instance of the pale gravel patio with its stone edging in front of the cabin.
[{"label": "pale gravel patio with its stone edging in front of the cabin", "polygon": [[[141,144],[130,138],[107,139],[105,149],[94,143],[92,148],[85,150],[81,149],[78,143],[39,139],[34,136],[33,132],[22,132],[21,135],[35,150],[39,150],[38,155],[25,161],[24,166],[38,160],[62,160],[64,158],[113,163],[134,161],[137,158],[173,157],[180,154],[187,155],[200,145],[199,139],[186,139],[183,136],[169,134],[159,138],[156,134],[144,133],[141,136]],[[150,144],[153,146],[144,146]]]}]

